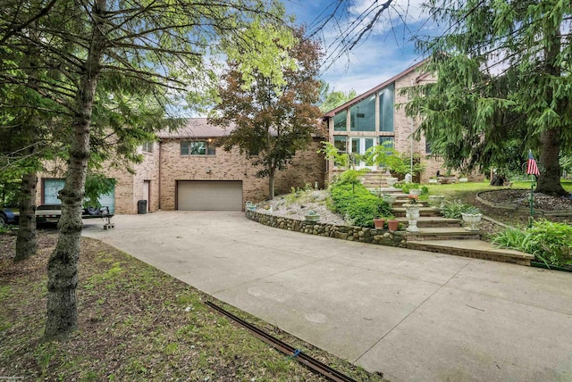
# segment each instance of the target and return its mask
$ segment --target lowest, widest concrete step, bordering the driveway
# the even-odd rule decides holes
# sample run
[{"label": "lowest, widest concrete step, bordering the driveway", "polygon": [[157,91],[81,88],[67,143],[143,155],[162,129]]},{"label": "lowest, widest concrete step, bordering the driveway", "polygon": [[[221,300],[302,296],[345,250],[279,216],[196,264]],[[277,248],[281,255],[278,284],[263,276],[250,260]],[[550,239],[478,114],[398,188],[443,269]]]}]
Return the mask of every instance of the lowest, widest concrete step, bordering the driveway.
[{"label": "lowest, widest concrete step, bordering the driveway", "polygon": [[482,240],[408,240],[408,248],[420,251],[447,253],[473,259],[492,260],[494,262],[510,262],[513,264],[528,265],[534,256],[512,249],[494,247],[491,243]]}]

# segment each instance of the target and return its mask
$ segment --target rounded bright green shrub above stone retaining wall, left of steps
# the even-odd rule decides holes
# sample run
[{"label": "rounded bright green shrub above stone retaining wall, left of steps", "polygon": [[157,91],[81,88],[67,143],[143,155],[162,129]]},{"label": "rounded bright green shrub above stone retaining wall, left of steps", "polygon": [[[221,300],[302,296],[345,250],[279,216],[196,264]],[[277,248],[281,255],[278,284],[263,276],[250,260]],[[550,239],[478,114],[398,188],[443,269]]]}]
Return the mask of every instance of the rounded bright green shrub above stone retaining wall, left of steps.
[{"label": "rounded bright green shrub above stone retaining wall, left of steps", "polygon": [[331,189],[332,208],[353,225],[374,227],[374,219],[391,216],[391,206],[372,195],[362,184],[335,183]]}]

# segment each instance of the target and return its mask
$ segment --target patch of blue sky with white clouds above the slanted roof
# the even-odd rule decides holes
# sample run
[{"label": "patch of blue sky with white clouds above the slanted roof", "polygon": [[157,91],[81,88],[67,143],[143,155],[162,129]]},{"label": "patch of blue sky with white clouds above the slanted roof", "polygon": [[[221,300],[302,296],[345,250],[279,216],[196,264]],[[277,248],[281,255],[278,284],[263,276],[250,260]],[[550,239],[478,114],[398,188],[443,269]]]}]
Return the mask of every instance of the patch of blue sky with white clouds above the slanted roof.
[{"label": "patch of blue sky with white clouds above the slanted roof", "polygon": [[[355,21],[358,13],[376,0],[354,0],[355,6],[345,10],[341,22]],[[317,18],[332,14],[334,0],[284,0],[286,10],[296,15],[297,22],[314,29]],[[344,2],[347,3],[347,2]],[[378,1],[377,4],[382,4]],[[435,35],[438,30],[427,22],[420,7],[421,0],[395,0],[388,11],[383,12],[380,22],[372,33],[363,39],[349,54],[335,61],[326,62],[322,79],[330,84],[330,90],[347,92],[355,89],[357,94],[375,87],[386,79],[421,61],[424,56],[415,52],[411,37],[414,35]],[[405,21],[405,22],[404,22]],[[366,22],[366,21],[365,21]],[[362,23],[362,25],[364,25]],[[335,23],[330,23],[319,34],[326,50],[326,57],[332,54],[335,37],[340,36]]]}]

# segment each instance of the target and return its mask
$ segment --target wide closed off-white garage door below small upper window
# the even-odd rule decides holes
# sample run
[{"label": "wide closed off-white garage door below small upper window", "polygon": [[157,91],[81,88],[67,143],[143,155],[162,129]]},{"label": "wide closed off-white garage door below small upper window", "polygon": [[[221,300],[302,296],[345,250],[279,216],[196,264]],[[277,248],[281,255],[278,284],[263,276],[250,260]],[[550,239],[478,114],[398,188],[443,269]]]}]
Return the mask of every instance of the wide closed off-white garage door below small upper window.
[{"label": "wide closed off-white garage door below small upper window", "polygon": [[242,211],[242,182],[240,180],[179,181],[177,209]]}]

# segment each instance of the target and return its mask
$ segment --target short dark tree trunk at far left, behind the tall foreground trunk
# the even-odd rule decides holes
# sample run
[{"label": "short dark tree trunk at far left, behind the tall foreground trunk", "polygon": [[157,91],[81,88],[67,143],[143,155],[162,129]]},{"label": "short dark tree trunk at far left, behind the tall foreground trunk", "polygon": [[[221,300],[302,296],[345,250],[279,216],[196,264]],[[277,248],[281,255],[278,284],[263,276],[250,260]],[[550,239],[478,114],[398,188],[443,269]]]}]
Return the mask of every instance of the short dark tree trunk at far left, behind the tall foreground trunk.
[{"label": "short dark tree trunk at far left, behind the tall foreground trunk", "polygon": [[38,174],[29,172],[21,177],[20,221],[16,239],[16,257],[14,262],[28,259],[38,249],[36,239],[36,183]]}]

